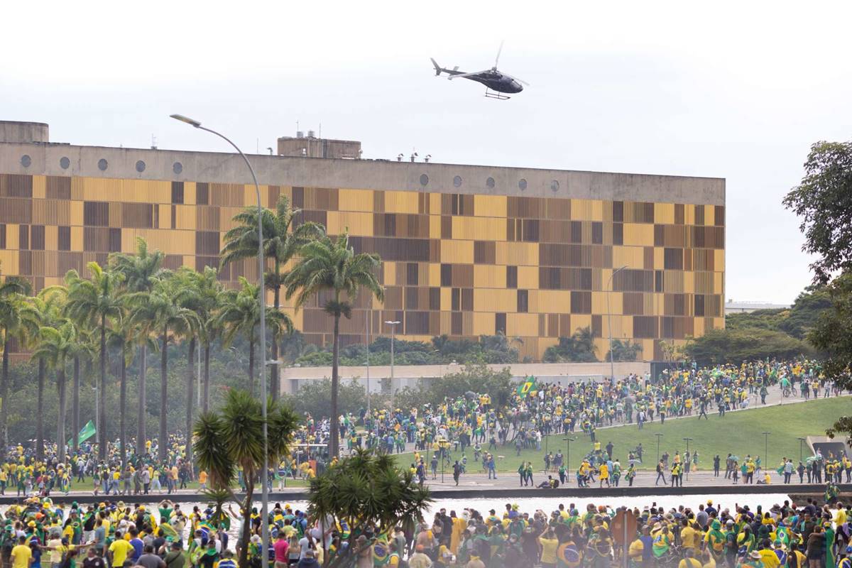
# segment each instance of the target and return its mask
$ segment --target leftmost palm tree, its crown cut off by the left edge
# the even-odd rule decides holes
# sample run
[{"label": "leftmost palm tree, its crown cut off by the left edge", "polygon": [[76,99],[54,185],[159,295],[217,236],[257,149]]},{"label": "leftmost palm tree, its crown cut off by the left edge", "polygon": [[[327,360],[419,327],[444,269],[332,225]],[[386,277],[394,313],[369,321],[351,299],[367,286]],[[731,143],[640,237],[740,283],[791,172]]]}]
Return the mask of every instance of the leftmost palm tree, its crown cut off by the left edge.
[{"label": "leftmost palm tree, its crown cut off by the left edge", "polygon": [[0,278],[0,333],[3,337],[3,372],[0,374],[0,458],[5,459],[9,447],[9,345],[12,339],[20,339],[22,329],[21,312],[26,309],[26,296],[30,295],[30,283],[24,278],[7,276]]}]

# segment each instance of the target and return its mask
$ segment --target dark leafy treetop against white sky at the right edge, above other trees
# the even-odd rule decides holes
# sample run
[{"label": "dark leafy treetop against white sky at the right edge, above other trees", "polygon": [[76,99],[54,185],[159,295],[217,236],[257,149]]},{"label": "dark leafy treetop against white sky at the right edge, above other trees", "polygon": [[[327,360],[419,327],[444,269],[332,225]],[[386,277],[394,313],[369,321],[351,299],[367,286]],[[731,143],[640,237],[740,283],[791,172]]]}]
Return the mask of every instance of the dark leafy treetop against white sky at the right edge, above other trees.
[{"label": "dark leafy treetop against white sky at the right edge, above other trees", "polygon": [[816,255],[814,279],[826,284],[852,270],[852,141],[810,146],[804,172],[783,203],[802,219],[802,250]]}]

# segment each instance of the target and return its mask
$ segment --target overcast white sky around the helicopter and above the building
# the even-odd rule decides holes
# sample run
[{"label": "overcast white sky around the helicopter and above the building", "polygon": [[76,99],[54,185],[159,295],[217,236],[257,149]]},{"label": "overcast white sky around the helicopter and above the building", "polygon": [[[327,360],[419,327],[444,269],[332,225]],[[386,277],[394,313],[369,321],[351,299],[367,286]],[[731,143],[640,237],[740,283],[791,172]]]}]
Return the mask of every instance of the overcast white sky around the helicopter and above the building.
[{"label": "overcast white sky around the helicopter and above the building", "polygon": [[[849,2],[0,4],[0,119],[53,141],[255,151],[320,129],[365,158],[728,180],[727,297],[809,283],[780,199],[809,145],[849,140]],[[443,66],[531,83],[483,98]]]}]

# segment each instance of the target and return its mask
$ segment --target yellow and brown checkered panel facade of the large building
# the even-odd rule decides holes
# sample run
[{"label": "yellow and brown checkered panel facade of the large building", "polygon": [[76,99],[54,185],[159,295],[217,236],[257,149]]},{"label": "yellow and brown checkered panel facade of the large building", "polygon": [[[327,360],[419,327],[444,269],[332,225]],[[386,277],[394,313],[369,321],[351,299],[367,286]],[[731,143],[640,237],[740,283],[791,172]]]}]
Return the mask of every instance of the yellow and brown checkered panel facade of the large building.
[{"label": "yellow and brown checkered panel facade of the large building", "polygon": [[[559,336],[589,327],[602,359],[611,314],[613,338],[639,342],[642,359],[660,359],[660,341],[724,324],[722,205],[261,189],[264,205],[287,196],[302,209],[300,221],[331,234],[348,229],[356,250],[382,256],[385,301],[356,302],[344,343],[364,341],[368,319],[373,336],[396,319],[406,339],[504,333],[539,359]],[[164,251],[167,267],[219,266],[233,215],[254,203],[254,186],[240,184],[2,174],[0,266],[38,290],[61,284],[71,268],[106,263],[110,252],[132,252],[137,237]],[[253,261],[240,261],[222,267],[221,278],[233,285],[255,275]],[[330,341],[318,303],[285,309],[310,341]]]}]

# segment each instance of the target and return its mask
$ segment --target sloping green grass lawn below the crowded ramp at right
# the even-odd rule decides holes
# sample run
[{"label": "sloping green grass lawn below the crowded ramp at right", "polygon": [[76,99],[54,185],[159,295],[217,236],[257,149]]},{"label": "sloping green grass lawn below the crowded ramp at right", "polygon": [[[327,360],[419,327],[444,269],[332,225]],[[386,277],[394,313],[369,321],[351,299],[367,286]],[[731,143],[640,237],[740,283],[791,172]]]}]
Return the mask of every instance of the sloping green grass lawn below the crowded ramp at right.
[{"label": "sloping green grass lawn below the crowded ramp at right", "polygon": [[[659,442],[659,451],[662,454],[668,450],[672,454],[675,450],[686,450],[684,438],[692,438],[689,442],[689,450],[699,452],[699,470],[712,468],[713,456],[724,458],[728,453],[745,458],[746,454],[751,456],[762,456],[764,464],[769,463],[773,469],[780,463],[782,456],[793,457],[798,460],[799,441],[797,438],[809,435],[825,435],[826,428],[844,414],[852,411],[852,399],[849,397],[818,399],[809,402],[785,404],[781,406],[769,406],[751,410],[741,410],[728,413],[724,418],[717,414],[711,414],[709,420],[702,418],[700,421],[694,417],[679,418],[677,420],[666,420],[664,425],[659,420],[653,424],[646,423],[642,430],[635,424],[619,426],[598,430],[597,440],[601,447],[608,442],[613,442],[613,453],[619,458],[624,468],[627,463],[627,453],[636,445],[642,443],[644,449],[644,463],[638,468],[653,469],[656,467],[657,437],[656,433],[663,434]],[[769,462],[763,456],[763,432],[769,431]],[[579,460],[591,449],[590,437],[579,430],[573,433],[577,440],[571,443],[570,467],[577,468]],[[565,436],[551,435],[542,440],[542,450],[521,450],[521,456],[515,456],[515,447],[512,445],[499,446],[497,456],[498,471],[515,473],[521,461],[533,462],[535,471],[544,469],[544,450],[562,450],[565,455],[566,448],[563,439]],[[483,446],[485,449],[486,446]],[[468,472],[481,471],[479,464],[472,463],[473,451],[466,452],[468,457]],[[809,450],[803,447],[803,455],[808,456]],[[459,459],[461,452],[452,452],[452,459]],[[411,454],[403,454],[397,458],[403,465],[412,462]],[[428,461],[428,460],[427,460]]]}]

